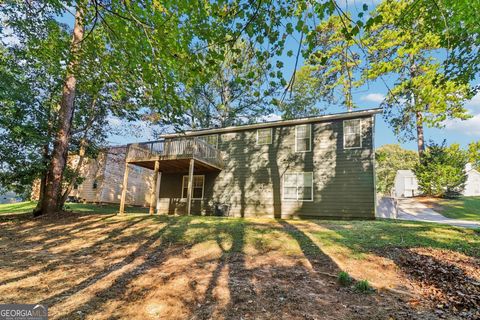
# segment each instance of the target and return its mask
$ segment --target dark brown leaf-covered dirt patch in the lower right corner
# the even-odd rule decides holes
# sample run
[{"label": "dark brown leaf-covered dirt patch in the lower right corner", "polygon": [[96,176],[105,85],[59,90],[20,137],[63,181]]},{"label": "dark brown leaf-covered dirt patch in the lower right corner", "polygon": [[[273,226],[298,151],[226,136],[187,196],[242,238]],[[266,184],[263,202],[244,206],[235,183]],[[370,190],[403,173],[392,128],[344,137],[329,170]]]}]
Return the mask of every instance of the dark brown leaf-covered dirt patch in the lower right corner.
[{"label": "dark brown leaf-covered dirt patch in the lower right corner", "polygon": [[439,317],[480,319],[478,259],[429,248],[395,248],[388,255]]}]

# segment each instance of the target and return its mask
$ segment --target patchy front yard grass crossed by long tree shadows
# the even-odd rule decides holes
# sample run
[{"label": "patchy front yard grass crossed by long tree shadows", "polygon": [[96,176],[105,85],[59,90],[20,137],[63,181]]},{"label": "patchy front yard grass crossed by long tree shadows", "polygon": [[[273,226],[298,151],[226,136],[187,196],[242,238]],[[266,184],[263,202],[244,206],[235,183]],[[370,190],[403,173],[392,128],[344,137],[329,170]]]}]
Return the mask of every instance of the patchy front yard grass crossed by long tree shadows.
[{"label": "patchy front yard grass crossed by long tree shadows", "polygon": [[385,260],[392,247],[480,257],[474,230],[439,224],[118,216],[104,214],[116,206],[69,205],[86,214],[0,222],[9,257],[0,259],[0,303],[37,301],[56,319],[358,316],[340,302],[387,318],[398,299],[339,291],[332,277],[351,277],[359,292],[402,286],[403,273]]}]

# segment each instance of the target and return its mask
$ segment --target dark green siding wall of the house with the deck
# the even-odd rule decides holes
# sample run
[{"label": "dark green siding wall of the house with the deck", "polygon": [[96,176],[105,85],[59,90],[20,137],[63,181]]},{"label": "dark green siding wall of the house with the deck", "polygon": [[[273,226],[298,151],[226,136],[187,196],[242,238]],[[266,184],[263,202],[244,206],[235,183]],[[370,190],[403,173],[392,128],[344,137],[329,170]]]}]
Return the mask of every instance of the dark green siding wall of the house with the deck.
[{"label": "dark green siding wall of the house with the deck", "polygon": [[[272,128],[256,145],[255,129],[219,134],[225,168],[205,174],[203,200],[192,213],[230,216],[374,218],[373,117],[362,118],[362,148],[343,148],[343,120],[312,123],[312,150],[295,152],[295,126]],[[283,200],[285,173],[313,172],[313,201]],[[195,173],[200,174],[200,173]],[[185,212],[182,176],[163,174],[159,212]]]}]

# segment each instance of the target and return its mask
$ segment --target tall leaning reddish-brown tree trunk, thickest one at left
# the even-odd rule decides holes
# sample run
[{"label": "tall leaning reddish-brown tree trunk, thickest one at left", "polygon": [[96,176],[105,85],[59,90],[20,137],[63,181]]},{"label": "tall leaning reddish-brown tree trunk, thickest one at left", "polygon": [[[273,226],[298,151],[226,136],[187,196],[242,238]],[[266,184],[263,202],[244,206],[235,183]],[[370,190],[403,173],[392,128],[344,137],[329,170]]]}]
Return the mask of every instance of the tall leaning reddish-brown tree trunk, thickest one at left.
[{"label": "tall leaning reddish-brown tree trunk, thickest one at left", "polygon": [[63,85],[57,134],[48,169],[45,193],[40,205],[41,210],[37,212],[38,215],[57,212],[61,209],[60,197],[62,192],[63,171],[67,162],[66,158],[70,142],[70,130],[75,108],[75,88],[77,84],[75,69],[78,65],[80,45],[84,34],[82,5],[77,3],[76,10],[75,25],[70,45],[71,57],[68,64],[65,83]]}]

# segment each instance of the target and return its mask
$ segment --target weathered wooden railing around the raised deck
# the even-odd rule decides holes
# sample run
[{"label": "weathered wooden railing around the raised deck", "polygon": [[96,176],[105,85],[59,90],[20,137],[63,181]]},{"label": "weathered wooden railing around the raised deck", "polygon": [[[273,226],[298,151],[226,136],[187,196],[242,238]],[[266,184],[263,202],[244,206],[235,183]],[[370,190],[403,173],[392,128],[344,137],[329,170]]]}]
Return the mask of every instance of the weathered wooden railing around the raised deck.
[{"label": "weathered wooden railing around the raised deck", "polygon": [[218,149],[199,138],[176,138],[152,142],[134,143],[128,146],[127,161],[198,159],[223,168]]}]

